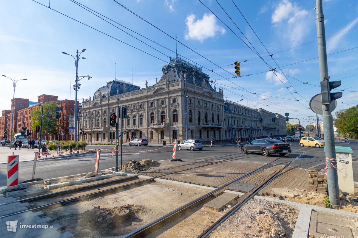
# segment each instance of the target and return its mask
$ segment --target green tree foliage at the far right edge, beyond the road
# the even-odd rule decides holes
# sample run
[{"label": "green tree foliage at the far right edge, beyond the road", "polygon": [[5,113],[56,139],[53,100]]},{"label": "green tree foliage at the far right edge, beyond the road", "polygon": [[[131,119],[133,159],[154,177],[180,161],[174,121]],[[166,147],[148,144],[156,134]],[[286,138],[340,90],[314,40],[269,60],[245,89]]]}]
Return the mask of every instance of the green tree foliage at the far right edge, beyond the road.
[{"label": "green tree foliage at the far right edge, beyond the road", "polygon": [[335,113],[337,119],[334,125],[337,127],[338,133],[342,135],[349,134],[351,137],[358,136],[358,105],[341,109]]}]

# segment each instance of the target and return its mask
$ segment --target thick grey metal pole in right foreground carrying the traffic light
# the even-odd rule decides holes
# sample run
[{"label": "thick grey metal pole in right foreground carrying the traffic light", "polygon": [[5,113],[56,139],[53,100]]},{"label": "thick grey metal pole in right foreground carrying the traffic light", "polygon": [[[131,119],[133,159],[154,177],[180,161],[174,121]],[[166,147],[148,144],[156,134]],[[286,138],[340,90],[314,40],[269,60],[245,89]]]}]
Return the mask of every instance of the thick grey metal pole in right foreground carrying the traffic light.
[{"label": "thick grey metal pole in right foreground carrying the traffic light", "polygon": [[[316,0],[316,27],[317,27],[317,42],[318,42],[318,58],[319,58],[319,71],[320,80],[324,81],[329,79],[328,77],[328,65],[327,65],[327,52],[326,52],[326,37],[324,30],[324,15],[322,0]],[[322,105],[323,110],[323,130],[325,133],[325,154],[326,160],[329,159],[327,168],[327,180],[328,180],[328,193],[329,202],[334,208],[340,206],[339,188],[338,188],[338,176],[335,166],[337,166],[335,145],[334,145],[334,132],[333,132],[333,118],[332,111],[329,105]]]}]

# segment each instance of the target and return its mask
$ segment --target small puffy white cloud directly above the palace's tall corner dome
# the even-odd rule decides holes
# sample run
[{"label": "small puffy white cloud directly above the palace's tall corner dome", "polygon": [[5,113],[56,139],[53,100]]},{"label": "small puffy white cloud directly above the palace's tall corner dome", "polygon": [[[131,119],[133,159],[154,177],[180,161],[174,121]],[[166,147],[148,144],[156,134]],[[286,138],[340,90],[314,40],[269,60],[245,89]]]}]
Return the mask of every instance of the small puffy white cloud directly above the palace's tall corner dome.
[{"label": "small puffy white cloud directly above the palace's tall corner dome", "polygon": [[194,14],[190,14],[185,20],[187,24],[185,40],[198,40],[203,42],[207,38],[226,32],[223,27],[217,25],[216,17],[213,14],[205,13],[201,20],[195,20],[195,17]]}]

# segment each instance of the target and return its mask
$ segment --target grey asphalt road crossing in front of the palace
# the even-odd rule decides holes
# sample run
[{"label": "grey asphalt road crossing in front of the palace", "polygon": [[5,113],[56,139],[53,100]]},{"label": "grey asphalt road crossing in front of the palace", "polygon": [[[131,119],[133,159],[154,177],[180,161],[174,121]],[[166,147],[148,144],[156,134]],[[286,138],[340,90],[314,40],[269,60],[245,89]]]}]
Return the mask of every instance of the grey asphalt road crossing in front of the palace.
[{"label": "grey asphalt road crossing in front of the palace", "polygon": [[[337,143],[339,146],[349,146],[353,150],[353,156],[357,153],[358,142],[353,141],[350,144]],[[108,147],[111,148],[111,147]],[[158,149],[158,150],[156,150]],[[299,156],[301,153],[304,153],[299,158],[296,159],[291,166],[296,166],[303,163],[312,162],[302,166],[301,168],[310,168],[310,167],[324,167],[324,149],[315,148],[315,147],[300,147],[298,143],[291,143],[292,153],[286,155],[283,158],[278,159],[274,162],[283,163],[292,160]],[[150,152],[139,152],[139,153],[124,153],[123,154],[123,164],[131,161],[132,159],[141,160],[145,158],[155,159],[155,160],[165,160],[169,159],[172,156],[172,147],[158,147],[158,146],[146,146],[146,147],[137,147],[137,146],[126,146],[126,151],[143,151],[143,150],[155,150]],[[227,158],[237,156],[237,159],[245,162],[261,162],[268,163],[279,158],[279,155],[271,155],[270,157],[264,157],[259,154],[242,154],[241,151],[236,150],[234,146],[217,146],[217,147],[204,147],[202,151],[178,151],[176,152],[176,157],[180,159],[208,159],[213,157]],[[120,165],[120,155],[118,164]],[[69,157],[66,159],[48,159],[48,160],[39,160],[36,167],[35,177],[37,178],[55,178],[62,176],[69,176],[73,174],[80,174],[91,172],[95,168],[96,154],[91,153],[88,155]],[[115,156],[112,156],[111,151],[101,151],[100,158],[100,170],[115,167]],[[357,164],[354,164],[354,167],[357,167]],[[20,162],[19,163],[19,181],[24,181],[30,179],[32,175],[33,162]],[[0,165],[0,186],[6,185],[6,174],[7,167],[6,164]],[[354,180],[358,180],[358,171],[354,169]]]}]

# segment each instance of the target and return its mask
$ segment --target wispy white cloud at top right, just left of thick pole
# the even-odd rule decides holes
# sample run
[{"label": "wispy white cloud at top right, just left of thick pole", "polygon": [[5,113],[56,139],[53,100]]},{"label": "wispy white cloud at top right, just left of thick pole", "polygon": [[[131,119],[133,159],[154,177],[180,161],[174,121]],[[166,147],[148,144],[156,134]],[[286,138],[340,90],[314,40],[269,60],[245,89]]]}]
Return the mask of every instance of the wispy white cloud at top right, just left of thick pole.
[{"label": "wispy white cloud at top right, just left of thick pole", "polygon": [[302,9],[296,2],[283,0],[276,6],[271,16],[271,22],[277,29],[283,41],[290,42],[292,46],[298,45],[309,32],[308,11]]}]

